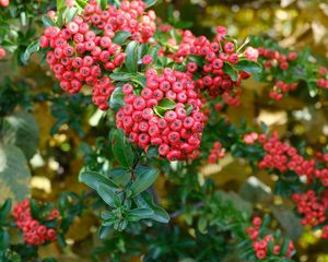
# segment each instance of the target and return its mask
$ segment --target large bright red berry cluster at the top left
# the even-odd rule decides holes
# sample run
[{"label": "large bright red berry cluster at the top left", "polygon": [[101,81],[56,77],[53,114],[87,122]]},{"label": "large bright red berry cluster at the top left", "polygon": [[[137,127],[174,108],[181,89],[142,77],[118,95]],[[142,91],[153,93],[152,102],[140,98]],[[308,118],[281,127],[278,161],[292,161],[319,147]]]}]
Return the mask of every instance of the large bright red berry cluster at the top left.
[{"label": "large bright red berry cluster at the top left", "polygon": [[155,13],[144,14],[141,1],[121,1],[120,8],[102,10],[95,0],[85,7],[65,28],[49,26],[40,36],[40,47],[47,48],[46,60],[60,81],[62,90],[74,94],[83,85],[93,86],[93,102],[107,109],[113,85],[106,76],[125,63],[122,47],[113,43],[118,31],[131,33],[131,38],[147,43],[155,32]]}]

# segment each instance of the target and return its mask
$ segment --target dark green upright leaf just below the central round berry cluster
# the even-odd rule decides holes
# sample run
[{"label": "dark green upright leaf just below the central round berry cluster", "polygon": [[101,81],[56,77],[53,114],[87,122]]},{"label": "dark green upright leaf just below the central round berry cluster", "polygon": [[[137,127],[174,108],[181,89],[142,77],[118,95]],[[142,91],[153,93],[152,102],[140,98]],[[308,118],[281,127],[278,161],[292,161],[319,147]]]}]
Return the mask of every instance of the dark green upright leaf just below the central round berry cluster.
[{"label": "dark green upright leaf just below the central round berry cluster", "polygon": [[132,168],[134,164],[134,152],[121,129],[113,131],[112,148],[116,159],[126,168]]}]

